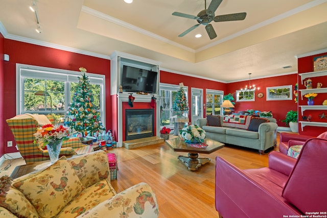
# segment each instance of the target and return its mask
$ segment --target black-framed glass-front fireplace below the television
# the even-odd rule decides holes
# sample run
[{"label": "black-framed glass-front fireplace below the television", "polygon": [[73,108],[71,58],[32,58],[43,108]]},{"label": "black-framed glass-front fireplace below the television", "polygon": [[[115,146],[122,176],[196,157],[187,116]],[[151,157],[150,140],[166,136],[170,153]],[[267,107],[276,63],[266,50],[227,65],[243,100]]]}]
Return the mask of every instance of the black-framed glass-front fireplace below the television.
[{"label": "black-framed glass-front fireplace below the television", "polygon": [[125,139],[154,136],[154,109],[125,110]]}]

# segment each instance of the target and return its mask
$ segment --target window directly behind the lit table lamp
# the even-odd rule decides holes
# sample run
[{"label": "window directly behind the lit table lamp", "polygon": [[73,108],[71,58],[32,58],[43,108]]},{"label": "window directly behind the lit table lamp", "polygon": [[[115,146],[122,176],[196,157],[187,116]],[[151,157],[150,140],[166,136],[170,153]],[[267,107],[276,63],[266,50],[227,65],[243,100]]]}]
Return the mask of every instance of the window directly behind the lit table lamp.
[{"label": "window directly behind the lit table lamp", "polygon": [[206,115],[219,115],[220,113],[220,105],[222,104],[223,91],[218,90],[205,90],[205,105],[206,105]]}]

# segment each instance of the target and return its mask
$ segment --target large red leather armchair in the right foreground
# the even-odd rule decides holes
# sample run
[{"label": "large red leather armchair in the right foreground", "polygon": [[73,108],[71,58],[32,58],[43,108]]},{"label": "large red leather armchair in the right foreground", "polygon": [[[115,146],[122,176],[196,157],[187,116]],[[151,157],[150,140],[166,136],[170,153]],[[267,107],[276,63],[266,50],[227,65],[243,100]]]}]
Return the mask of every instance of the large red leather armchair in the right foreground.
[{"label": "large red leather armchair in the right foreground", "polygon": [[326,181],[326,139],[308,139],[298,159],[273,151],[269,167],[259,169],[241,170],[217,157],[216,210],[224,218],[325,215]]}]

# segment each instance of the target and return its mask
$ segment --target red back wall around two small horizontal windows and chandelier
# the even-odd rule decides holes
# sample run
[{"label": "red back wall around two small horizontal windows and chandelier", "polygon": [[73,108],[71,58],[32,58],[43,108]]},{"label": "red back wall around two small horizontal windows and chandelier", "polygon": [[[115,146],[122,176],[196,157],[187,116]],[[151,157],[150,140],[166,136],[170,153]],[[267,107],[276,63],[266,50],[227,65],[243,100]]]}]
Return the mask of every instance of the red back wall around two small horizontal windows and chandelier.
[{"label": "red back wall around two small horizontal windows and chandelier", "polygon": [[[266,88],[274,87],[274,86],[284,86],[284,85],[292,85],[292,89],[294,89],[294,85],[297,83],[297,74],[291,74],[286,76],[279,77],[270,77],[263,79],[251,79],[251,85],[255,85],[259,87],[259,91],[256,90],[255,94],[262,92],[264,94],[263,98],[258,98],[255,95],[254,102],[235,102],[234,111],[246,111],[247,109],[260,110],[260,111],[271,111],[273,117],[277,120],[277,125],[279,127],[286,127],[286,124],[282,122],[285,119],[286,113],[289,110],[297,110],[297,104],[293,95],[292,100],[283,100],[283,101],[267,101],[266,100]],[[242,81],[236,83],[229,83],[227,85],[227,92],[232,93],[234,98],[236,99],[236,90],[240,90],[241,88],[249,85],[249,81]]]}]

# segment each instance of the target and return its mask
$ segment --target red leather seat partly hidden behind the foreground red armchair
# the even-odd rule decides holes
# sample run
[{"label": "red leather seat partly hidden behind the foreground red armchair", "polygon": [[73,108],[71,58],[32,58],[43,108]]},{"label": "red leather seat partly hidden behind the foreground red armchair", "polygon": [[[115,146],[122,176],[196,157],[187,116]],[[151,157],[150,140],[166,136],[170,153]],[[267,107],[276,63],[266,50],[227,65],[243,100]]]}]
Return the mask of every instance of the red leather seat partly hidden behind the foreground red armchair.
[{"label": "red leather seat partly hidden behind the foreground red armchair", "polygon": [[[282,132],[279,135],[279,152],[287,154],[291,146],[303,145],[309,138],[314,138],[308,135],[297,135],[292,133]],[[317,138],[327,138],[327,132],[324,132],[317,136]]]}]

